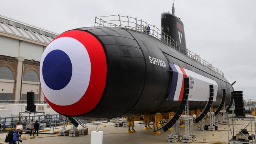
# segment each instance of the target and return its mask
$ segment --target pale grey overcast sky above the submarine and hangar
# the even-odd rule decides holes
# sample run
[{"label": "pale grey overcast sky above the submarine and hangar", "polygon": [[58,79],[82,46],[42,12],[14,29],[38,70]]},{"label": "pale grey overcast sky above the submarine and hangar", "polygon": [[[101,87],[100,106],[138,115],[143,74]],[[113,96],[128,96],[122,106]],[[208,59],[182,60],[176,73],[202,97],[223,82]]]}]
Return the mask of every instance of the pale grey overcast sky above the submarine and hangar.
[{"label": "pale grey overcast sky above the submarine and hangar", "polygon": [[[94,26],[95,16],[129,15],[160,27],[172,0],[3,0],[0,15],[62,33]],[[256,0],[175,0],[187,47],[256,99]]]}]

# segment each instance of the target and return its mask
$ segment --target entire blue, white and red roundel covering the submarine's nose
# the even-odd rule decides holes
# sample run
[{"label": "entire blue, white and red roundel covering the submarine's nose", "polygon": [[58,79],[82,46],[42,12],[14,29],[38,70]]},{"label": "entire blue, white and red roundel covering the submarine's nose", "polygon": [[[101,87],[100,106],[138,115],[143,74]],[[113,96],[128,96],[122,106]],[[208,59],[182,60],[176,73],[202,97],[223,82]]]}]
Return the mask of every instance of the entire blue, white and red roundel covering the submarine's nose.
[{"label": "entire blue, white and red roundel covering the submarine's nose", "polygon": [[91,111],[102,96],[106,75],[102,44],[86,31],[62,33],[46,47],[41,57],[43,94],[50,106],[64,115]]}]

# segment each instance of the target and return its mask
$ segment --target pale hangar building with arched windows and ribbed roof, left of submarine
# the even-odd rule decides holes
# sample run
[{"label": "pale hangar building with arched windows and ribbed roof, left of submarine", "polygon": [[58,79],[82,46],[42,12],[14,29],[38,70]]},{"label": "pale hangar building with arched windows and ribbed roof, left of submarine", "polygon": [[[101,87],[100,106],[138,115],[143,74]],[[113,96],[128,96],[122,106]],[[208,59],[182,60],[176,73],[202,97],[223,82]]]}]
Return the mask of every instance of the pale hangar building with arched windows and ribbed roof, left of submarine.
[{"label": "pale hangar building with arched windows and ribbed roof, left of submarine", "polygon": [[39,65],[43,51],[57,35],[0,16],[0,101],[25,101],[30,90],[35,92],[35,100],[45,100]]}]

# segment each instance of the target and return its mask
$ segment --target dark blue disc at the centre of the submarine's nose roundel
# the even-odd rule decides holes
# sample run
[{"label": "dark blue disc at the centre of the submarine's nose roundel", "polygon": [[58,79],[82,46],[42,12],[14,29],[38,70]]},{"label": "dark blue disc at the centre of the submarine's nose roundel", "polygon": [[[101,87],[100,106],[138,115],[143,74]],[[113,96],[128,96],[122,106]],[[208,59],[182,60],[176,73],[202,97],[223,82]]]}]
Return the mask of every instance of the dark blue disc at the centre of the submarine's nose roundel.
[{"label": "dark blue disc at the centre of the submarine's nose roundel", "polygon": [[60,90],[69,84],[72,76],[72,63],[69,56],[62,50],[49,52],[43,61],[43,79],[53,90]]}]

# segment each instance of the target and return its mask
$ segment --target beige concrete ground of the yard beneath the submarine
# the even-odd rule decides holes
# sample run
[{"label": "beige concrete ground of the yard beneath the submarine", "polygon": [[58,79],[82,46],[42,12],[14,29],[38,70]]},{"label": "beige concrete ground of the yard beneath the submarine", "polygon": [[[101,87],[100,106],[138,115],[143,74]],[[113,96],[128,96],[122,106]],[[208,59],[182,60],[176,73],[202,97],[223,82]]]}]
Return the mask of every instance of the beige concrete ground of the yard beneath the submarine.
[{"label": "beige concrete ground of the yard beneath the submarine", "polygon": [[[251,115],[248,115],[251,116]],[[219,118],[221,119],[221,118]],[[206,123],[209,120],[206,120]],[[170,131],[164,132],[161,131],[159,135],[151,135],[152,129],[143,130],[144,125],[135,124],[136,133],[126,133],[127,127],[114,127],[114,123],[104,123],[98,124],[99,131],[103,131],[103,143],[104,144],[167,144],[167,137],[170,135]],[[237,128],[234,129],[238,131],[238,129],[244,128],[249,121],[235,121],[234,122]],[[97,125],[88,125],[89,135],[79,136],[79,137],[69,137],[69,136],[59,136],[52,134],[39,134],[39,137],[30,139],[28,134],[23,134],[22,138],[24,141],[22,144],[90,144],[91,141],[91,131],[96,129]],[[106,126],[106,127],[103,127]],[[225,142],[228,143],[228,126],[227,125],[217,125],[219,131],[198,131],[197,124],[194,124],[194,133],[197,135],[196,143],[218,143]],[[70,126],[68,126],[70,128]],[[81,127],[78,127],[80,129]],[[185,135],[185,128],[181,127],[180,131]],[[247,130],[250,131],[250,126],[247,126]],[[254,127],[252,130],[255,131]],[[235,132],[238,133],[238,132]],[[229,133],[230,134],[230,133]],[[230,134],[231,135],[231,134]],[[0,134],[0,144],[4,143],[6,133]],[[204,141],[204,139],[206,141]],[[215,141],[215,142],[214,142]],[[181,144],[182,142],[177,142],[177,144]]]}]

